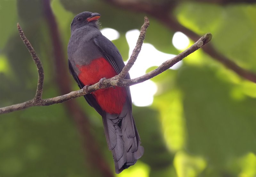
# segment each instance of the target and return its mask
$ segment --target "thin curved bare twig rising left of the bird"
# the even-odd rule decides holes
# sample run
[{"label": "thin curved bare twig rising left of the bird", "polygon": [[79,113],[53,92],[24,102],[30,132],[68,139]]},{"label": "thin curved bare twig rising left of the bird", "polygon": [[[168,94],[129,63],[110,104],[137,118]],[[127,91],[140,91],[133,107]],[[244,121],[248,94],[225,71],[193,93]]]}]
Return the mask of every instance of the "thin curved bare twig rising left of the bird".
[{"label": "thin curved bare twig rising left of the bird", "polygon": [[37,88],[36,88],[36,95],[34,97],[34,101],[38,101],[42,98],[42,93],[43,93],[43,85],[44,85],[44,69],[42,66],[42,63],[39,59],[39,57],[36,54],[36,51],[24,35],[24,32],[22,31],[20,24],[17,23],[17,28],[20,33],[20,38],[23,40],[25,46],[28,48],[29,53],[32,56],[32,59],[34,60],[38,72],[38,81],[37,81]]}]

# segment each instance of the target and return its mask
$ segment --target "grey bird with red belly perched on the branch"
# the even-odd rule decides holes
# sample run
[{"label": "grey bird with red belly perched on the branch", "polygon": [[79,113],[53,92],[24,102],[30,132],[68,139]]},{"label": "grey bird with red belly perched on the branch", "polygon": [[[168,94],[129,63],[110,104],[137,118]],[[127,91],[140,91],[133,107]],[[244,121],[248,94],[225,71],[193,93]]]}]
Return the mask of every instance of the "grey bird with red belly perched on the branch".
[{"label": "grey bird with red belly perched on the branch", "polygon": [[[99,18],[99,13],[85,11],[76,15],[70,25],[68,68],[81,89],[119,74],[124,67],[116,46],[100,32]],[[129,74],[125,79],[130,79]],[[84,98],[102,117],[115,172],[121,173],[144,153],[132,117],[130,88],[103,88]]]}]

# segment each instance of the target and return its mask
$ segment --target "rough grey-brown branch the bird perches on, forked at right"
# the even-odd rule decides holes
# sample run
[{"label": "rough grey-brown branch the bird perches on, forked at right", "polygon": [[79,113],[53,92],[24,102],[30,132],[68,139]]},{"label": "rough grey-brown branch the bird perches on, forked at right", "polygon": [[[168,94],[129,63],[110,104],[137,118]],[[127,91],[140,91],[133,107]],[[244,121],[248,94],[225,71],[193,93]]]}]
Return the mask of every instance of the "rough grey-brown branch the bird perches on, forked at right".
[{"label": "rough grey-brown branch the bird perches on, forked at right", "polygon": [[[148,24],[148,18],[145,18],[144,21],[146,24]],[[145,28],[143,28],[143,26],[142,26],[141,31],[140,31],[140,36],[142,36],[143,39],[144,39],[143,36],[145,36],[145,33],[146,33],[146,25],[145,25]],[[23,34],[22,31],[21,31],[21,34]],[[23,36],[24,36],[24,34],[23,34]],[[24,38],[26,39],[25,36],[24,36]],[[143,43],[143,40],[141,40],[142,38],[139,37],[136,47],[141,48],[142,43]],[[179,62],[180,60],[182,60],[189,54],[195,52],[196,50],[198,50],[199,48],[201,48],[202,46],[204,46],[205,44],[210,42],[211,39],[212,39],[212,34],[207,33],[203,37],[198,39],[198,41],[196,41],[196,43],[193,44],[192,46],[190,46],[187,50],[183,51],[182,53],[175,56],[174,58],[165,61],[163,64],[161,64],[155,70],[153,70],[147,74],[144,74],[140,77],[137,77],[135,79],[122,79],[120,77],[125,76],[124,74],[126,73],[126,71],[130,70],[130,68],[132,67],[133,63],[135,62],[135,60],[137,59],[137,56],[139,54],[139,52],[137,52],[137,50],[133,50],[132,56],[134,56],[134,57],[131,57],[128,61],[128,63],[131,63],[131,65],[128,67],[124,67],[125,70],[124,69],[122,70],[121,73],[123,73],[123,74],[121,76],[120,76],[120,74],[121,74],[120,73],[117,76],[114,76],[110,79],[106,79],[106,80],[103,80],[102,82],[95,83],[95,84],[89,86],[87,88],[87,91],[84,91],[84,89],[80,89],[80,90],[73,91],[73,92],[70,92],[70,93],[68,93],[66,95],[62,95],[62,96],[57,96],[57,97],[48,98],[48,99],[39,99],[39,100],[36,100],[34,98],[33,100],[30,100],[30,101],[27,101],[24,103],[3,107],[3,108],[0,108],[0,114],[13,112],[16,110],[22,110],[22,109],[32,107],[32,106],[48,106],[48,105],[52,105],[52,104],[56,104],[56,103],[62,103],[62,102],[65,102],[65,101],[68,101],[68,100],[71,100],[71,99],[74,99],[74,98],[77,98],[80,96],[84,96],[86,94],[89,94],[93,91],[96,91],[96,90],[99,90],[102,88],[108,88],[108,87],[113,87],[113,86],[126,87],[126,86],[131,86],[131,85],[134,85],[137,83],[141,83],[143,81],[146,81],[150,78],[155,77],[156,75],[158,75],[158,74],[164,72],[165,70],[167,70],[168,68],[172,67],[174,64],[176,64],[177,62]]]}]

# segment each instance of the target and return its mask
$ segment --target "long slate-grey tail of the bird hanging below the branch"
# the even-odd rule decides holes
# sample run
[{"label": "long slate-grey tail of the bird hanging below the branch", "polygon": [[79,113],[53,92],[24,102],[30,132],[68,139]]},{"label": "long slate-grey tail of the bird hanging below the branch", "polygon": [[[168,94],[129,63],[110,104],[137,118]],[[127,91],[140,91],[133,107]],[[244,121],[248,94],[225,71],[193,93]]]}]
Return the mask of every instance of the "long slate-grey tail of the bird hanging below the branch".
[{"label": "long slate-grey tail of the bird hanging below the branch", "polygon": [[117,174],[134,165],[144,152],[128,106],[127,103],[124,104],[120,115],[102,115],[108,149],[112,151]]}]

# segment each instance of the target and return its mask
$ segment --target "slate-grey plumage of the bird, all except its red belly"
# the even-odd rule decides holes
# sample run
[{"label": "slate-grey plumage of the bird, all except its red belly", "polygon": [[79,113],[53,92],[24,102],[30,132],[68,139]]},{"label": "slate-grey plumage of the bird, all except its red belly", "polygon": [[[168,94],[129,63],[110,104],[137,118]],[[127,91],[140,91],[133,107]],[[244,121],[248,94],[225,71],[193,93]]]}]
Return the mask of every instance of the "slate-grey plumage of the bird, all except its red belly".
[{"label": "slate-grey plumage of the bird, all except its red belly", "polygon": [[[116,46],[98,29],[98,18],[92,21],[87,20],[99,16],[100,14],[97,13],[82,12],[76,15],[71,23],[68,66],[80,88],[83,88],[84,84],[78,78],[80,74],[78,65],[89,65],[92,60],[104,57],[116,73],[120,73],[124,67],[123,59]],[[125,78],[129,79],[129,74]],[[127,96],[119,115],[102,110],[92,94],[84,96],[86,101],[102,116],[108,149],[112,151],[116,173],[134,165],[144,152],[144,148],[140,146],[140,137],[132,117],[130,88],[126,87],[125,90]]]}]

